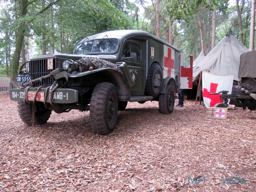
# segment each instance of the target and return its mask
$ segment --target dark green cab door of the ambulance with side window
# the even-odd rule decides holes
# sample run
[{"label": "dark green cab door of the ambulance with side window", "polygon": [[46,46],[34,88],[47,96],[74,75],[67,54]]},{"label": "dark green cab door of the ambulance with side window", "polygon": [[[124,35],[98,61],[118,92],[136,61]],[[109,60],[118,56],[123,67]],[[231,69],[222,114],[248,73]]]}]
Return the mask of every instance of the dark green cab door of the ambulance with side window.
[{"label": "dark green cab door of the ambulance with side window", "polygon": [[[134,86],[130,88],[131,96],[144,95],[144,83],[145,83],[145,48],[144,42],[127,40],[122,48],[122,58],[126,62],[132,81],[134,81]],[[136,53],[137,61],[131,61],[131,53]]]}]

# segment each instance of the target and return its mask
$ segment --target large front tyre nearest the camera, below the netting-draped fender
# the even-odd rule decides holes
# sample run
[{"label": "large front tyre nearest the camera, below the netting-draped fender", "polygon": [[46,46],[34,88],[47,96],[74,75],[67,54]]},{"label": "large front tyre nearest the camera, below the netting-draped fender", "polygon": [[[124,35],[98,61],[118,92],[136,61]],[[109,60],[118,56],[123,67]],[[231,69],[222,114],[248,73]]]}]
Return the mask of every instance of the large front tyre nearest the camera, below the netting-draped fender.
[{"label": "large front tyre nearest the camera, below the netting-draped fender", "polygon": [[99,83],[93,90],[90,104],[92,130],[100,135],[109,134],[116,125],[118,99],[115,86]]}]

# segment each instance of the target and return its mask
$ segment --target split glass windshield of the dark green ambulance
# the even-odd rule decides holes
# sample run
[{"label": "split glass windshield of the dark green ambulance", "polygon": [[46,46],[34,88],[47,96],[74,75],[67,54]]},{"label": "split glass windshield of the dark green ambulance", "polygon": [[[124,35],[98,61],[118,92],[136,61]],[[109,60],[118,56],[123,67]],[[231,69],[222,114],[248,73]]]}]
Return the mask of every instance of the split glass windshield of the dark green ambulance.
[{"label": "split glass windshield of the dark green ambulance", "polygon": [[77,45],[75,55],[85,55],[87,53],[99,52],[115,52],[118,48],[118,40],[116,38],[92,40],[83,42],[82,45]]}]

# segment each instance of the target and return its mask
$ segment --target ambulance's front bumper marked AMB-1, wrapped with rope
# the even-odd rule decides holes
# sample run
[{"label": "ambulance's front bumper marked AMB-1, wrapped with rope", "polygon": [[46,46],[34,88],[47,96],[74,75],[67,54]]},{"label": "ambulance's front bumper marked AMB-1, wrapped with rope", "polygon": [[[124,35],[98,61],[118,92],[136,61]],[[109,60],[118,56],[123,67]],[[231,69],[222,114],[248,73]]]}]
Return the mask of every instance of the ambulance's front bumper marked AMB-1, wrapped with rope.
[{"label": "ambulance's front bumper marked AMB-1, wrapped with rope", "polygon": [[[9,90],[9,97],[13,101],[23,101],[24,100],[24,90],[20,88],[14,88]],[[29,88],[28,100],[33,101],[33,96],[35,96],[37,88]],[[36,101],[43,102],[43,96],[45,94],[46,88],[41,88],[40,93],[38,93]],[[49,101],[49,91],[47,94],[47,103]],[[53,92],[53,103],[54,104],[74,104],[78,102],[78,91],[68,88],[57,88]]]}]

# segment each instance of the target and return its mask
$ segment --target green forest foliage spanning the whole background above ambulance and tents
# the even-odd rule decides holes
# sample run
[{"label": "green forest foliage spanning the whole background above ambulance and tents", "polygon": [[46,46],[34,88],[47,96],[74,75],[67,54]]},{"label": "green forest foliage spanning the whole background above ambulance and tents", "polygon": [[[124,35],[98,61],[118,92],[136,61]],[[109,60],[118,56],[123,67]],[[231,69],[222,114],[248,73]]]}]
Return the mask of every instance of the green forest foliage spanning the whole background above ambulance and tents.
[{"label": "green forest foliage spanning the whole background above ambulance and tents", "polygon": [[[148,3],[140,0],[145,9],[143,15],[138,14],[139,7],[129,0],[61,0],[45,11],[42,9],[53,0],[30,2],[24,17],[19,16],[21,1],[5,0],[0,10],[0,66],[1,70],[6,71],[8,75],[12,67],[20,26],[24,27],[23,35],[29,37],[30,43],[26,45],[36,45],[34,50],[30,49],[29,56],[41,55],[44,46],[46,53],[53,51],[72,53],[76,43],[82,38],[115,29],[142,29],[156,35],[154,0]],[[245,46],[249,45],[250,4],[250,0],[245,3],[242,14]],[[227,9],[228,0],[192,2],[174,0],[173,6],[170,5],[170,0],[160,1],[160,38],[168,42],[169,22],[172,18],[174,46],[183,53],[199,55],[201,51],[200,21],[204,33],[203,41],[208,52],[214,5],[216,6],[216,42],[224,37],[230,27],[234,35],[239,38],[236,7]],[[172,11],[170,7],[173,8]]]}]

